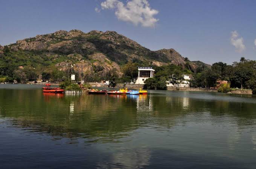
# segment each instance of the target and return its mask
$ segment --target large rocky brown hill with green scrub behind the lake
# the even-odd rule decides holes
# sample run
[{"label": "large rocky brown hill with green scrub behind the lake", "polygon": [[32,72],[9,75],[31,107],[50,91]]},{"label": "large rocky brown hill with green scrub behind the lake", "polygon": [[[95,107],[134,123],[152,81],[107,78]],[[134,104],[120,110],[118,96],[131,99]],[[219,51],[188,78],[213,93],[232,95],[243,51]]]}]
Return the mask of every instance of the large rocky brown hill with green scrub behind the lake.
[{"label": "large rocky brown hill with green scrub behind the lake", "polygon": [[[10,59],[23,64],[17,66],[54,64],[60,70],[67,71],[72,63],[72,69],[79,74],[97,71],[104,76],[115,69],[121,76],[120,66],[128,61],[140,63],[142,66],[176,64],[184,67],[189,64],[194,72],[198,67],[197,62],[186,62],[174,49],[151,51],[115,31],[93,30],[84,33],[80,30],[59,30],[18,40],[6,48],[12,52]],[[0,46],[0,54],[4,50]],[[201,64],[204,63],[199,66]]]}]

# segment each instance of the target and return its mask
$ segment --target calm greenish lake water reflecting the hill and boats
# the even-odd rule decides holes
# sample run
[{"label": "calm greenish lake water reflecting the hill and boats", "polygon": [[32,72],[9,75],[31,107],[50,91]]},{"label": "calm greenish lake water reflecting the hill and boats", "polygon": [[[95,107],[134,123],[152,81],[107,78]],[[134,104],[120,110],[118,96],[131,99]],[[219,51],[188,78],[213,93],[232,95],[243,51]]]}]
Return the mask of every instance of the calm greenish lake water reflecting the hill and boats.
[{"label": "calm greenish lake water reflecting the hill and boats", "polygon": [[256,168],[256,97],[0,85],[0,168]]}]

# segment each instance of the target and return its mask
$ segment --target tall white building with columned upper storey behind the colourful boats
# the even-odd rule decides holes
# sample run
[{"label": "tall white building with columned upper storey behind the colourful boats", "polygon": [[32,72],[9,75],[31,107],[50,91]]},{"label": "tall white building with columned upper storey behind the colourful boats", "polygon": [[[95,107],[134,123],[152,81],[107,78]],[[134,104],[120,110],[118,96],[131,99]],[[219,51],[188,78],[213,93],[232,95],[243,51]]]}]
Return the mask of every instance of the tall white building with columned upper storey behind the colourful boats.
[{"label": "tall white building with columned upper storey behind the colourful boats", "polygon": [[155,70],[152,67],[138,67],[139,75],[135,84],[144,84],[144,81],[154,76]]}]

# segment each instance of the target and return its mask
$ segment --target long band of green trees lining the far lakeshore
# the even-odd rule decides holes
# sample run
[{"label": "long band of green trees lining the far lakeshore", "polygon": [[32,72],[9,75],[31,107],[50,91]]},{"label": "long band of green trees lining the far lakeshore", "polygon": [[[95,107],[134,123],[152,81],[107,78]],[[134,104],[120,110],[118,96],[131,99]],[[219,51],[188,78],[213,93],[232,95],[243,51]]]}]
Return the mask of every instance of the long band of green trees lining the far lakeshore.
[{"label": "long band of green trees lining the far lakeshore", "polygon": [[[187,62],[189,62],[188,59]],[[67,81],[70,74],[75,74],[76,81],[84,80],[85,83],[89,83],[100,82],[101,80],[107,79],[110,81],[110,87],[115,87],[116,84],[130,84],[131,82],[135,82],[136,78],[138,77],[138,66],[141,66],[141,63],[128,62],[122,66],[122,76],[117,75],[114,70],[111,70],[104,77],[93,77],[93,75],[79,76],[73,69],[70,69],[69,72],[64,72],[54,68],[50,71],[44,71],[40,73],[30,66],[24,66],[23,69],[16,69],[12,72],[8,72],[9,76],[3,75],[6,74],[6,72],[3,72],[2,70],[0,75],[0,82],[17,82],[24,84],[29,81],[40,80],[41,82],[49,81],[59,84],[63,81]],[[143,66],[148,65],[144,64]],[[199,66],[197,67],[196,72],[192,72],[189,64],[186,64],[184,67],[174,64],[152,67],[155,69],[155,74],[153,78],[146,79],[144,85],[145,89],[167,90],[167,80],[175,83],[176,81],[183,80],[182,75],[187,74],[192,77],[190,80],[190,88],[211,89],[216,87],[216,82],[218,80],[225,80],[228,81],[228,84],[221,86],[219,92],[228,93],[237,89],[250,89],[253,94],[256,93],[255,60],[246,60],[242,57],[239,62],[233,62],[232,65],[218,62],[213,63],[211,67]],[[169,90],[173,89],[169,87]],[[189,89],[184,90],[188,91]]]}]

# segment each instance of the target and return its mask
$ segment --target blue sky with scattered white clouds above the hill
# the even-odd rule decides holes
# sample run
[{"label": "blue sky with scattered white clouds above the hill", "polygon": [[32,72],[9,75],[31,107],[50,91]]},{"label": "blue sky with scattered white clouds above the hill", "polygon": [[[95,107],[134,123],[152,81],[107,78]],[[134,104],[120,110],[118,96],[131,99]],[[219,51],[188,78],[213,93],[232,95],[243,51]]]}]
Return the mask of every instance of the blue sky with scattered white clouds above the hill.
[{"label": "blue sky with scattered white clouds above the hill", "polygon": [[0,45],[57,30],[113,30],[189,60],[256,60],[256,0],[0,0]]}]

